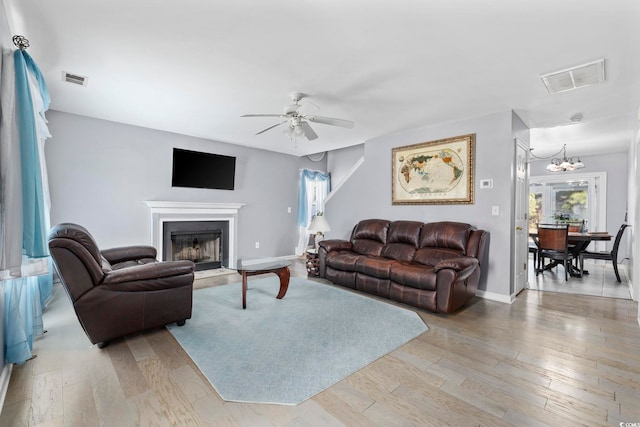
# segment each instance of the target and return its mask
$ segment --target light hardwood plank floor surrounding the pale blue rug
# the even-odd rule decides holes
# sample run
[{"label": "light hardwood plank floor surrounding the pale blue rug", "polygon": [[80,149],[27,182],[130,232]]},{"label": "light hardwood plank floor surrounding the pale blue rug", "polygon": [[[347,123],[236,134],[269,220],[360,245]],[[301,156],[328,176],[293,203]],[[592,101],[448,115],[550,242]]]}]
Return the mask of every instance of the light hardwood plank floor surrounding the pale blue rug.
[{"label": "light hardwood plank floor surrounding the pale blue rug", "polygon": [[[292,270],[306,276],[302,262]],[[37,357],[14,367],[0,426],[640,423],[633,301],[525,290],[513,304],[417,312],[428,332],[306,402],[245,404],[222,401],[164,328],[91,346],[57,288]]]}]

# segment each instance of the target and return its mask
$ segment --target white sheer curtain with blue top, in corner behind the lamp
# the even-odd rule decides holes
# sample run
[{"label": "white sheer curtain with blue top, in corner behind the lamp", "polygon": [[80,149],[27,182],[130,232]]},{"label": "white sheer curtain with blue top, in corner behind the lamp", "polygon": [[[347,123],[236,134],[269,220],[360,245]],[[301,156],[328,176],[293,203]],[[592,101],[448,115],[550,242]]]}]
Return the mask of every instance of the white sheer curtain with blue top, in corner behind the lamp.
[{"label": "white sheer curtain with blue top, in corner behind the lamp", "polygon": [[309,224],[318,212],[324,212],[324,199],[331,190],[331,177],[323,171],[302,169],[298,199],[298,244],[296,254],[304,254],[309,242]]}]

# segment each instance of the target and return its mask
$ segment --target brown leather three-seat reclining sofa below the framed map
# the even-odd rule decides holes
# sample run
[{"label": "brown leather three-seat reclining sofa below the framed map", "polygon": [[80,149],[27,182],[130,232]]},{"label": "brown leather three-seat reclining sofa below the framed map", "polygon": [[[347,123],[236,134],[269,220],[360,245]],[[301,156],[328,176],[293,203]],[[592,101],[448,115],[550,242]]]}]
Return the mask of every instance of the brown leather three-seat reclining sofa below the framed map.
[{"label": "brown leather three-seat reclining sofa below the framed map", "polygon": [[320,277],[433,312],[475,296],[487,232],[459,222],[367,219],[349,240],[319,242]]}]

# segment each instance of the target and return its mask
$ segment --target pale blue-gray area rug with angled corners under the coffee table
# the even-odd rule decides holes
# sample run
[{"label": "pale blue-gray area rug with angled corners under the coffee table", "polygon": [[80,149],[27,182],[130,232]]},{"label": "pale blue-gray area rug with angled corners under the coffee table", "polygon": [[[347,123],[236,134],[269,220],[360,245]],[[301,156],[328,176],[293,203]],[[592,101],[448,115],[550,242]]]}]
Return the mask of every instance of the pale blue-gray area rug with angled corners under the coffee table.
[{"label": "pale blue-gray area rug with angled corners under the coffee table", "polygon": [[296,405],[428,328],[414,312],[292,277],[193,293],[193,317],[167,328],[227,401]]}]

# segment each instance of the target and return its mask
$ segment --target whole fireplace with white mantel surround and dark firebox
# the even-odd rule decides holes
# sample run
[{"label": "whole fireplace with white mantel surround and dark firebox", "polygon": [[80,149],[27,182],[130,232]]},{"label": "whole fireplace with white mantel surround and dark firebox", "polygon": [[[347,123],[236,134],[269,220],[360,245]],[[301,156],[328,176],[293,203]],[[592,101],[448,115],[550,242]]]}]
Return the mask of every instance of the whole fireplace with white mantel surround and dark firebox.
[{"label": "whole fireplace with white mantel surround and dark firebox", "polygon": [[151,244],[159,259],[190,259],[196,270],[235,268],[238,211],[244,204],[144,203],[151,213]]}]

